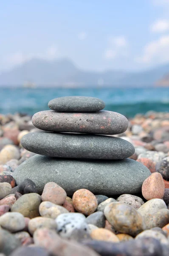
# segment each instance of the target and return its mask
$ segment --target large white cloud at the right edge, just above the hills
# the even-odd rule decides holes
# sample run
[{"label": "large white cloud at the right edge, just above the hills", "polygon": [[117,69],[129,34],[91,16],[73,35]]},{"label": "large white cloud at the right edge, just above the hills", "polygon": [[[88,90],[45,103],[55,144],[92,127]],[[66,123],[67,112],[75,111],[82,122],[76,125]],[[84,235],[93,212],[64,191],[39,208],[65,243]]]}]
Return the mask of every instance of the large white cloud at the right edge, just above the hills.
[{"label": "large white cloud at the right edge, just above the hills", "polygon": [[158,40],[147,44],[143,49],[143,55],[135,58],[135,61],[145,64],[169,61],[169,35],[161,36]]}]

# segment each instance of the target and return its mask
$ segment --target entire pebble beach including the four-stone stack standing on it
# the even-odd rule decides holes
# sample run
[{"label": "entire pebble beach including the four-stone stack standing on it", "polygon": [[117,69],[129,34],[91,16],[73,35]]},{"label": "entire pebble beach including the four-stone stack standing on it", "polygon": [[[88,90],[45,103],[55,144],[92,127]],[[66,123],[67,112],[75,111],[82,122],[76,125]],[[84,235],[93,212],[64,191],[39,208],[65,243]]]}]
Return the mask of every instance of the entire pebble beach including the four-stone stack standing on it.
[{"label": "entire pebble beach including the four-stone stack standing on it", "polygon": [[0,114],[0,256],[168,256],[169,113],[48,107]]}]

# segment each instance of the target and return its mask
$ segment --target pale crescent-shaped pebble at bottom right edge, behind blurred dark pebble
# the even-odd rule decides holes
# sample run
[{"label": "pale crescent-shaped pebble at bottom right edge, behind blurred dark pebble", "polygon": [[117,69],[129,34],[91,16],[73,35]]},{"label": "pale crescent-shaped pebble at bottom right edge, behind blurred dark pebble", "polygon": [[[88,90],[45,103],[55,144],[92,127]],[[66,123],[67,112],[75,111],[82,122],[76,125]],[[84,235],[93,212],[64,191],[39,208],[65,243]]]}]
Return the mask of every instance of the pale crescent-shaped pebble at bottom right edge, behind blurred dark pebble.
[{"label": "pale crescent-shaped pebble at bottom right edge, behind blurred dark pebble", "polygon": [[143,232],[141,232],[140,234],[138,234],[135,239],[140,239],[142,237],[145,238],[155,238],[158,241],[160,241],[161,244],[166,244],[169,245],[169,241],[166,238],[166,236],[164,236],[161,232],[155,231],[155,230],[144,230]]}]

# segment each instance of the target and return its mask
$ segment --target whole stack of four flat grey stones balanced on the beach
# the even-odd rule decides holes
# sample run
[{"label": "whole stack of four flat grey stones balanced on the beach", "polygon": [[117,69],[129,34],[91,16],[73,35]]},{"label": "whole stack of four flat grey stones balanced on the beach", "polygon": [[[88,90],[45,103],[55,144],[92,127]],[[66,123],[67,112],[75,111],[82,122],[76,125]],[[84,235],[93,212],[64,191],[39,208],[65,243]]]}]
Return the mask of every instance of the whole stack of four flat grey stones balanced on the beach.
[{"label": "whole stack of four flat grey stones balanced on the beach", "polygon": [[56,182],[67,195],[82,188],[95,195],[141,192],[149,169],[127,158],[135,152],[131,143],[107,136],[127,130],[125,116],[102,110],[104,102],[92,97],[61,97],[48,106],[51,110],[32,117],[34,126],[43,131],[26,134],[21,140],[36,155],[15,170],[17,184],[29,178],[39,194],[48,182]]}]

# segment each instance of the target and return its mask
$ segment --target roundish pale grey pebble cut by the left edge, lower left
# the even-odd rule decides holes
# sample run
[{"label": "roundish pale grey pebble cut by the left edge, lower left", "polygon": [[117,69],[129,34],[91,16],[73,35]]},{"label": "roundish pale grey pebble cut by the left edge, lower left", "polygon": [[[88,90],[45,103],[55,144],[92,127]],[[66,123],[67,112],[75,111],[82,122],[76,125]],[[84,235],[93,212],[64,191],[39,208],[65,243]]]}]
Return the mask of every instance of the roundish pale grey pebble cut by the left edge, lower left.
[{"label": "roundish pale grey pebble cut by the left edge, lower left", "polygon": [[0,226],[14,233],[24,229],[25,219],[19,212],[6,212],[0,216]]}]

